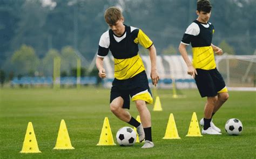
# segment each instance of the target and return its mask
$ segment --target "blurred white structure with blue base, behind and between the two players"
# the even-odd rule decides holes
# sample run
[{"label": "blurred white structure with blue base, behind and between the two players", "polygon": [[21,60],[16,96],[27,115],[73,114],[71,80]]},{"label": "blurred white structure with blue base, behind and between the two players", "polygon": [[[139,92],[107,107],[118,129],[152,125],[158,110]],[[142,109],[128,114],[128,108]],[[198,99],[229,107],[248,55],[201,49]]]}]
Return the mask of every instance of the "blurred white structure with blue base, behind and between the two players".
[{"label": "blurred white structure with blue base, behind and between the two players", "polygon": [[[152,86],[150,71],[150,56],[142,55],[142,60],[146,68],[149,84]],[[190,59],[192,58],[189,56]],[[104,57],[104,67],[106,69],[107,78],[104,79],[104,86],[111,87],[113,81],[113,56]],[[157,69],[160,77],[158,88],[172,88],[172,82],[175,80],[177,88],[196,88],[196,83],[192,76],[187,75],[187,67],[180,55],[157,56]]]}]

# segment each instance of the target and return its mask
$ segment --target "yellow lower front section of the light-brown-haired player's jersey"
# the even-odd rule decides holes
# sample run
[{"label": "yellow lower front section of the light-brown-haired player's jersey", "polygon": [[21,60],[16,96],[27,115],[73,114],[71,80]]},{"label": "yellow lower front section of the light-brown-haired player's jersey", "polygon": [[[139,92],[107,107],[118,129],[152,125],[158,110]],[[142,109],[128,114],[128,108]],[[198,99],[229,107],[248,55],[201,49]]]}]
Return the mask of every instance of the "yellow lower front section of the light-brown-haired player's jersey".
[{"label": "yellow lower front section of the light-brown-haired player's jersey", "polygon": [[114,58],[114,77],[119,80],[129,79],[144,70],[145,67],[139,54],[129,59]]}]

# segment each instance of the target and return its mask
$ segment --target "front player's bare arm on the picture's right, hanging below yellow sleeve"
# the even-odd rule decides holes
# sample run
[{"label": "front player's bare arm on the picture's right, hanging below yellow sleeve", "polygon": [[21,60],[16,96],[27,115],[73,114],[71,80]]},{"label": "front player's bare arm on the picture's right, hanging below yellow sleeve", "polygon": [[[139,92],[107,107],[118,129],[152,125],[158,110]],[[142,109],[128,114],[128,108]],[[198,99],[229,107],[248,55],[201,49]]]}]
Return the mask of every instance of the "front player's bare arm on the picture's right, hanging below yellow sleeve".
[{"label": "front player's bare arm on the picture's right, hanging below yellow sleeve", "polygon": [[150,77],[152,79],[152,84],[154,86],[156,86],[158,81],[159,81],[159,76],[158,76],[158,73],[157,73],[157,50],[154,47],[154,45],[152,45],[148,49],[149,49],[150,61],[151,61],[151,74],[150,74]]}]

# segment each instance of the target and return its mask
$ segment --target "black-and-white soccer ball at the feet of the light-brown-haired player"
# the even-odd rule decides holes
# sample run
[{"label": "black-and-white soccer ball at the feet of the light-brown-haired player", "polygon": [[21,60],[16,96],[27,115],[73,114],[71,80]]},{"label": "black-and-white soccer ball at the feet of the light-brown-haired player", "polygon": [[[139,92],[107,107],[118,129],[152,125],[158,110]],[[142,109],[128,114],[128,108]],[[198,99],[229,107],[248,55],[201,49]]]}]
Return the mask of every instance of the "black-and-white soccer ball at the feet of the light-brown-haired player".
[{"label": "black-and-white soccer ball at the feet of the light-brown-haired player", "polygon": [[137,139],[136,132],[131,127],[122,127],[117,132],[117,142],[120,146],[132,146]]}]

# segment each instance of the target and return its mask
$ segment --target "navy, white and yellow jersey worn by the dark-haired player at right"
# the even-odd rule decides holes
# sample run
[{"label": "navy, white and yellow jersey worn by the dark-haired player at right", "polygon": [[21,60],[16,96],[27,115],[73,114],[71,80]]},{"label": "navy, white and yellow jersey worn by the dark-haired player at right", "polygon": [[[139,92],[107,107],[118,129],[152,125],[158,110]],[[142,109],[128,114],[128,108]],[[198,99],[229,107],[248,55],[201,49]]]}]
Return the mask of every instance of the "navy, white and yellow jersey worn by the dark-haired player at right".
[{"label": "navy, white and yellow jersey worn by the dark-haired player at right", "polygon": [[212,35],[214,27],[211,23],[203,24],[198,20],[187,27],[181,43],[191,43],[193,52],[193,67],[210,70],[216,68],[214,52],[212,49]]}]

